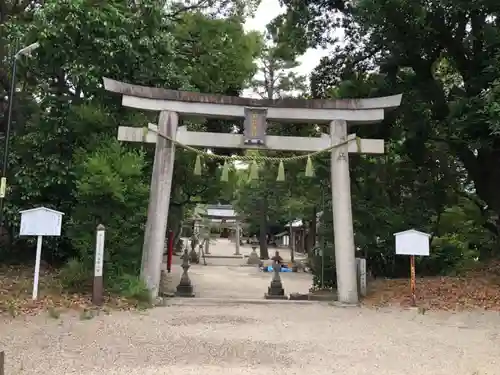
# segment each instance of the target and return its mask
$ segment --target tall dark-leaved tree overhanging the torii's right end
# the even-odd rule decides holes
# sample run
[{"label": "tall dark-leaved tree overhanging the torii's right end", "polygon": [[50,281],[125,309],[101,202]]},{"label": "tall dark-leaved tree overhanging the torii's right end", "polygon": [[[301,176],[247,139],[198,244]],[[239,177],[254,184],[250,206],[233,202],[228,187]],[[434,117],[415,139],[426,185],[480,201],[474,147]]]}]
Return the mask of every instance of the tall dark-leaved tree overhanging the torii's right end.
[{"label": "tall dark-leaved tree overhanging the torii's right end", "polygon": [[[491,95],[499,73],[498,4],[488,0],[285,3],[287,15],[275,23],[286,30],[280,36],[289,37],[288,42],[297,38],[297,48],[331,43],[333,29],[345,26],[347,43],[324,61],[323,73],[329,73],[318,79],[316,93],[329,95],[328,87],[378,68],[383,86],[374,87],[372,95],[397,91],[406,95],[400,113],[411,158],[423,167],[424,154],[445,149],[498,216],[500,202],[493,193],[498,173],[490,168],[499,155],[491,117],[495,113]],[[332,13],[338,14],[338,22],[329,25],[326,20]],[[498,222],[495,225],[491,229],[498,235]]]}]

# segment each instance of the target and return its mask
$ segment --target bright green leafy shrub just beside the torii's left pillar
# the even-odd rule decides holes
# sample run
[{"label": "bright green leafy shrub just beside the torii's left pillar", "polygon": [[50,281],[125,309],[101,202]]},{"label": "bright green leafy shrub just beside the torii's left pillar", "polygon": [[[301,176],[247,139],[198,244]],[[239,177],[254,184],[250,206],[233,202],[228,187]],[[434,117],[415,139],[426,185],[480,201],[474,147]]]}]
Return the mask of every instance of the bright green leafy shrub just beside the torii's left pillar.
[{"label": "bright green leafy shrub just beside the torii's left pillar", "polygon": [[109,287],[123,275],[139,274],[150,180],[144,153],[109,138],[75,159],[77,205],[68,236],[80,262],[93,269],[96,227],[105,226],[103,275]]}]

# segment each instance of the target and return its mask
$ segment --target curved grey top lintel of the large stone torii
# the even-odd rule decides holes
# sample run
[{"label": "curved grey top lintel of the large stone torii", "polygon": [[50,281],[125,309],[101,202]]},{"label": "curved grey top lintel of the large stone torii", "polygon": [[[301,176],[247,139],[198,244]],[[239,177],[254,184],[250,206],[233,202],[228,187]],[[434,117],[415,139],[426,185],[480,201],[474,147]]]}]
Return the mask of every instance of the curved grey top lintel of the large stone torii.
[{"label": "curved grey top lintel of the large stone torii", "polygon": [[121,94],[123,105],[153,111],[175,111],[205,117],[245,117],[245,108],[267,108],[267,118],[286,121],[354,123],[383,120],[384,111],[399,107],[402,95],[368,99],[252,99],[146,87],[103,78],[107,91]]}]

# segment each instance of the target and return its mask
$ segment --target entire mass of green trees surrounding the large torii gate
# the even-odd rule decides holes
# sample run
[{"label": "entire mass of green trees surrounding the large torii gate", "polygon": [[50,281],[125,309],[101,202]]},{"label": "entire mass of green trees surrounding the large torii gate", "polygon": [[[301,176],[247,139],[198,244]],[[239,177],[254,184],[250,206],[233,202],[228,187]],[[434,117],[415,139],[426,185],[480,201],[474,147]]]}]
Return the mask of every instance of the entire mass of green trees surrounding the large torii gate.
[{"label": "entire mass of green trees surrounding the large torii gate", "polygon": [[[63,211],[63,236],[45,253],[54,265],[73,259],[69,275],[91,266],[93,231],[113,233],[106,264],[117,288],[138,273],[153,150],[121,144],[119,125],[143,126],[155,114],[123,108],[102,77],[134,84],[266,98],[364,98],[403,93],[401,107],[378,125],[353,126],[382,138],[383,156],[351,156],[355,240],[371,271],[407,272],[392,235],[415,227],[433,236],[433,252],[418,264],[428,274],[456,272],[498,257],[500,241],[500,4],[493,0],[282,0],[285,12],[265,36],[243,24],[258,1],[169,2],[0,0],[0,130],[5,140],[12,55],[17,61],[13,137],[0,261],[24,262],[29,241],[17,236],[18,212],[34,205]],[[330,53],[314,68],[310,87],[297,57],[308,48]],[[237,121],[183,123],[190,129],[242,132]],[[320,125],[269,124],[270,134],[319,136]],[[233,154],[237,150],[211,150]],[[277,154],[277,153],[276,153]],[[306,247],[328,250],[333,262],[329,155],[303,164],[262,164],[259,179],[207,161],[193,174],[195,155],[180,150],[169,229],[180,235],[197,203],[233,203],[259,232],[301,218]],[[323,212],[320,227],[316,217]],[[320,240],[316,243],[316,232]],[[125,239],[125,240],[124,240]],[[87,272],[88,273],[88,272]],[[128,276],[127,276],[128,277]],[[84,278],[85,279],[85,278]],[[76,281],[75,281],[76,280]],[[78,287],[83,281],[69,282]],[[333,280],[333,277],[332,277]],[[80,284],[79,284],[80,283]],[[114,285],[115,285],[114,284]]]}]

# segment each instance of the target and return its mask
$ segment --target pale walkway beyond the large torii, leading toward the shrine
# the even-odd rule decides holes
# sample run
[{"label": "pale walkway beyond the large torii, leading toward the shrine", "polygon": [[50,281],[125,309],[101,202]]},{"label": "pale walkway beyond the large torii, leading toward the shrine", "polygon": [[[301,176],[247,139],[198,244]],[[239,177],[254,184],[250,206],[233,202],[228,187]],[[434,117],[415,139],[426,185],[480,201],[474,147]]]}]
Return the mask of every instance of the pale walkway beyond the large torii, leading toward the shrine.
[{"label": "pale walkway beyond the large torii, leading toward the shrine", "polygon": [[[271,282],[272,273],[262,272],[257,266],[247,266],[247,258],[217,258],[231,257],[234,254],[234,243],[219,239],[212,241],[210,257],[206,258],[207,266],[193,264],[189,275],[194,285],[197,297],[228,298],[228,299],[262,299]],[[242,255],[249,255],[249,246],[242,246]],[[270,249],[270,251],[272,251]],[[289,250],[280,250],[281,256],[288,261]],[[215,256],[215,257],[212,257]],[[178,284],[182,268],[181,260],[176,257],[172,268],[171,288]],[[285,293],[307,293],[312,286],[312,275],[303,272],[282,272],[281,278]]]}]

